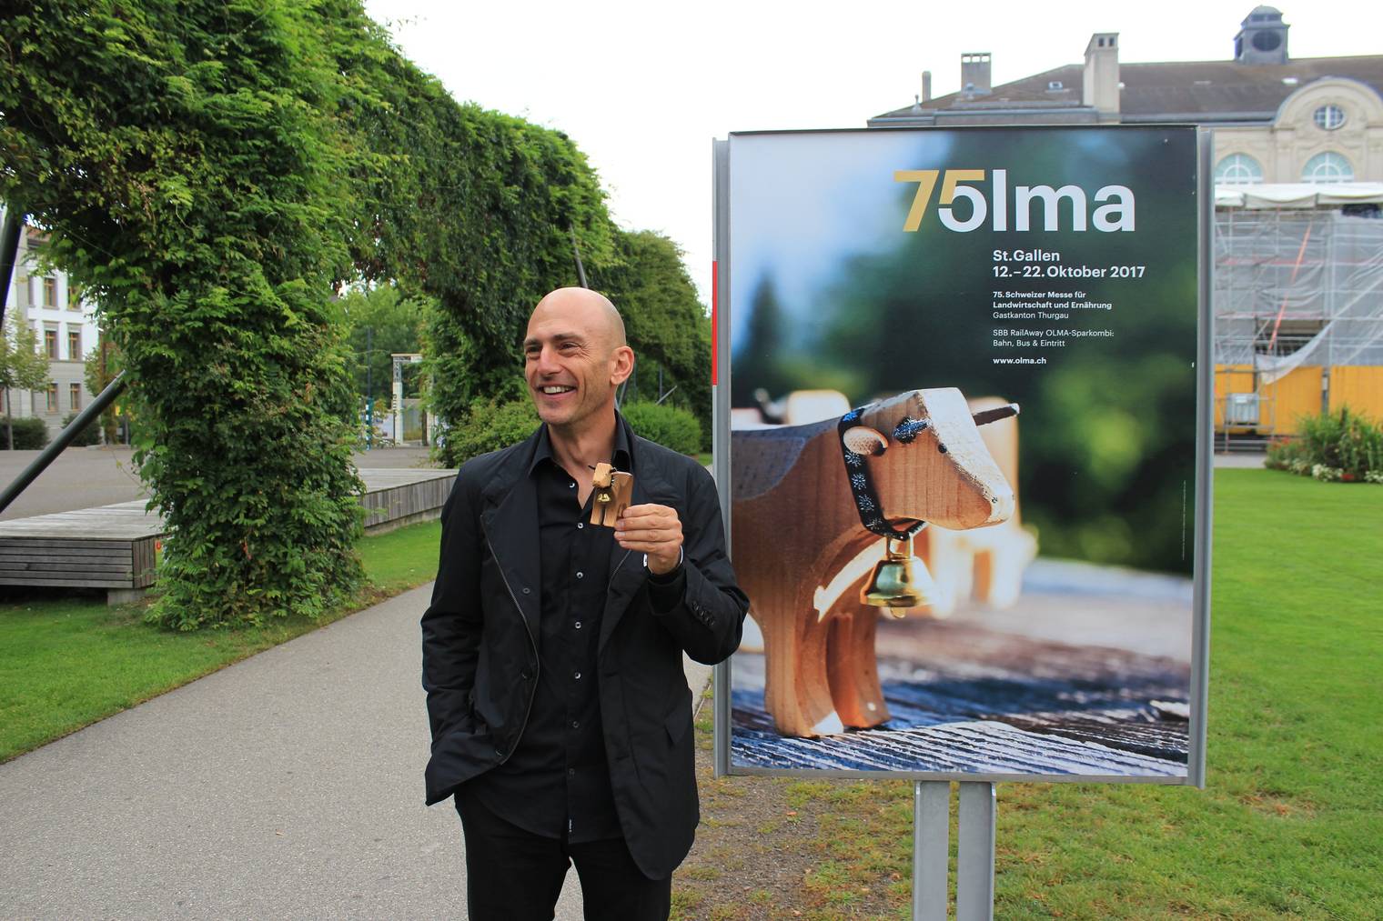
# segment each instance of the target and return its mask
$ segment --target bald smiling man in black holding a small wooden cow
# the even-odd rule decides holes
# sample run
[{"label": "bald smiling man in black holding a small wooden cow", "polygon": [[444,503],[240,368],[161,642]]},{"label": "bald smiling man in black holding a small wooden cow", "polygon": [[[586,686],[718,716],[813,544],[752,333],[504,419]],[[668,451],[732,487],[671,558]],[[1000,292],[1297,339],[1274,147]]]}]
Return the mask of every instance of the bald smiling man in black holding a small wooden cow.
[{"label": "bald smiling man in black holding a small wooden cow", "polygon": [[[726,658],[748,599],[711,476],[615,409],[614,306],[552,292],[523,353],[542,425],[462,465],[443,510],[427,803],[455,798],[472,921],[552,918],[573,863],[586,918],[667,918],[698,819],[682,654]],[[613,530],[591,524],[600,462],[633,474]]]}]

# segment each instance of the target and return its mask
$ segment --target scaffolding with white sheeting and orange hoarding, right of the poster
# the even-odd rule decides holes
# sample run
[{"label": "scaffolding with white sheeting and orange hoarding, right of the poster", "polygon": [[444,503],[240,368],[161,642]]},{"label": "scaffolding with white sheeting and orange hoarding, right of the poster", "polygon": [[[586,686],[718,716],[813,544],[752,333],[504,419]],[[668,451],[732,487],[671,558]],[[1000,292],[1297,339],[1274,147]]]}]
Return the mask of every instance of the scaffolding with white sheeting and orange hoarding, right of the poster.
[{"label": "scaffolding with white sheeting and orange hoarding, right of the poster", "polygon": [[1383,220],[1217,209],[1212,308],[1217,430],[1290,433],[1339,405],[1342,373],[1351,405],[1383,416]]}]

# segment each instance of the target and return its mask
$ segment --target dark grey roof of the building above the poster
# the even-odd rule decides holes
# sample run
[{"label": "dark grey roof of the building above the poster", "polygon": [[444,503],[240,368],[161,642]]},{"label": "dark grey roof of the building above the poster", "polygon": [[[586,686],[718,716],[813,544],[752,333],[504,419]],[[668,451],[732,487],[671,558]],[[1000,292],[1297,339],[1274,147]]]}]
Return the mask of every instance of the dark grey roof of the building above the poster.
[{"label": "dark grey roof of the building above the poster", "polygon": [[[1124,122],[1268,122],[1292,93],[1324,77],[1346,77],[1383,95],[1383,55],[1297,58],[1286,64],[1167,61],[1119,65],[1119,113]],[[932,120],[1014,109],[1094,109],[1080,98],[1084,68],[1069,64],[994,87],[990,93],[952,93],[893,109],[874,122]]]}]

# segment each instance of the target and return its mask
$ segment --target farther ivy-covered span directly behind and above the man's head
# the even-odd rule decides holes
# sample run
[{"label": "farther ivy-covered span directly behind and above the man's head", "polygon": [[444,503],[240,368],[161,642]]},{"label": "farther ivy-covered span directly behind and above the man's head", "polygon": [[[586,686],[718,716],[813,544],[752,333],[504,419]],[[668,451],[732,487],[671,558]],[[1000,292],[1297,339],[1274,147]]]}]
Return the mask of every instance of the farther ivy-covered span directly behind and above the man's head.
[{"label": "farther ivy-covered span directly behind and above the man's head", "polygon": [[[366,28],[368,32],[368,28]],[[354,41],[354,40],[353,40]],[[479,398],[519,396],[519,343],[538,299],[614,259],[595,170],[560,131],[458,104],[375,30],[337,46],[342,105],[369,156],[358,174],[353,252],[371,279],[426,295],[431,402],[463,425]],[[449,448],[443,459],[455,463]]]}]

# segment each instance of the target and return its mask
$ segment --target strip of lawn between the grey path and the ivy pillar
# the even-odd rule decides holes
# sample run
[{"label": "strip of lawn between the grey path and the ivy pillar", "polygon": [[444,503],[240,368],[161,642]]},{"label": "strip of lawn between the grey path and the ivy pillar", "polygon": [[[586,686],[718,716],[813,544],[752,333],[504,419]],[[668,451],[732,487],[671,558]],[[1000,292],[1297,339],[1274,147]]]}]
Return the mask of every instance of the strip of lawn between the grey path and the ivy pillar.
[{"label": "strip of lawn between the grey path and the ivy pillar", "polygon": [[0,762],[430,581],[440,535],[426,521],[364,538],[369,588],[319,621],[171,633],[144,624],[142,606],[106,607],[104,595],[0,602]]}]

